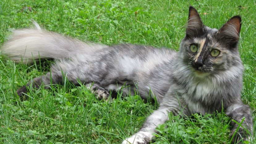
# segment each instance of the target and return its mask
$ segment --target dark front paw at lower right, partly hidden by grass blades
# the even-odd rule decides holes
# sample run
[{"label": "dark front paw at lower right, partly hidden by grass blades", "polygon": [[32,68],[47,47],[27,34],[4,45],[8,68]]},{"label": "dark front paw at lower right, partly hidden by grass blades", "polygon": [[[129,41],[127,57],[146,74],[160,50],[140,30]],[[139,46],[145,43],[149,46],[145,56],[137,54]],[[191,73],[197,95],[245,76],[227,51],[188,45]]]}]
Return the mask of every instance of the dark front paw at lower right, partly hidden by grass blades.
[{"label": "dark front paw at lower right, partly hidden by grass blades", "polygon": [[232,143],[242,144],[243,141],[250,142],[250,135],[241,127],[238,129],[238,131],[236,131],[235,128],[232,129],[230,133],[230,137],[233,137]]}]

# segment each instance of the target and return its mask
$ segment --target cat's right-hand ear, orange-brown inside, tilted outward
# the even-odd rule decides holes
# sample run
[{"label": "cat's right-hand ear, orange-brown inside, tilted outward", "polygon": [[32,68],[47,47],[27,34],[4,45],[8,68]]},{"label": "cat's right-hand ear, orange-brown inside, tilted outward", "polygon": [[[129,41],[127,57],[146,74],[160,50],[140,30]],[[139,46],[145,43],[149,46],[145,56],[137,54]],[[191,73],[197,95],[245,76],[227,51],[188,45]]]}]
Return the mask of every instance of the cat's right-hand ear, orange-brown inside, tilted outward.
[{"label": "cat's right-hand ear, orange-brown inside, tilted outward", "polygon": [[241,21],[242,20],[239,15],[233,16],[219,30],[221,39],[231,46],[237,44],[239,40]]}]

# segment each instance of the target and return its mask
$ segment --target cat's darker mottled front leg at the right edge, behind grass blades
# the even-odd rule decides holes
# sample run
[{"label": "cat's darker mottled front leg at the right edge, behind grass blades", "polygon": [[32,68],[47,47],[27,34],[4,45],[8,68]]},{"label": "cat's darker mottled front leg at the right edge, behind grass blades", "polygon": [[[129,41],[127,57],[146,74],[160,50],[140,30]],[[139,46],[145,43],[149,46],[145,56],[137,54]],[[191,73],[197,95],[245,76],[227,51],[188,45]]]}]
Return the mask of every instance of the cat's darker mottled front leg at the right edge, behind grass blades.
[{"label": "cat's darker mottled front leg at the right edge, behind grass blades", "polygon": [[[242,103],[232,104],[226,109],[226,114],[239,123],[241,123],[245,117],[244,121],[242,122],[242,126],[240,126],[238,130],[237,128],[239,125],[234,121],[231,122],[233,129],[230,135],[231,137],[234,136],[232,142],[242,143],[241,138],[243,141],[250,141],[250,133],[253,129],[250,107]],[[249,133],[244,128],[247,129]]]}]

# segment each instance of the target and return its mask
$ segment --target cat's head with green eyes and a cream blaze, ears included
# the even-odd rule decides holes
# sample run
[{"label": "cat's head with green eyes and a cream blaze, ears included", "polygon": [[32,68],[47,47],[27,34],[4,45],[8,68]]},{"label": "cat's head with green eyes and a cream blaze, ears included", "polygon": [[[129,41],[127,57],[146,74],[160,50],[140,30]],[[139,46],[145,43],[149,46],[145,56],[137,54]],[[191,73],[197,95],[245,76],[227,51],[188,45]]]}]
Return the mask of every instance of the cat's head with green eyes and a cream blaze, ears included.
[{"label": "cat's head with green eyes and a cream blaze, ears included", "polygon": [[180,46],[180,57],[196,75],[208,75],[241,65],[238,40],[241,17],[234,16],[219,30],[203,25],[192,6],[189,8],[186,37]]}]

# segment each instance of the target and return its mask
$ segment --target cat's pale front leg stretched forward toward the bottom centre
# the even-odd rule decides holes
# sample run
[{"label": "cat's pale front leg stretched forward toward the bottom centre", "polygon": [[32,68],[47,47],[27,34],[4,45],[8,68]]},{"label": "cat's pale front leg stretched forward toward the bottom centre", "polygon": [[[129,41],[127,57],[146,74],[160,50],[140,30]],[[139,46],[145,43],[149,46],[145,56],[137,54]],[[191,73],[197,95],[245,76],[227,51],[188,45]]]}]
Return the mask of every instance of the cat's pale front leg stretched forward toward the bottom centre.
[{"label": "cat's pale front leg stretched forward toward the bottom centre", "polygon": [[143,124],[142,129],[138,133],[135,133],[130,138],[126,138],[122,144],[147,144],[153,138],[153,133],[156,133],[156,127],[169,120],[169,112],[173,112],[177,115],[178,107],[173,106],[160,106],[158,110],[154,111]]}]

